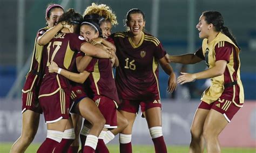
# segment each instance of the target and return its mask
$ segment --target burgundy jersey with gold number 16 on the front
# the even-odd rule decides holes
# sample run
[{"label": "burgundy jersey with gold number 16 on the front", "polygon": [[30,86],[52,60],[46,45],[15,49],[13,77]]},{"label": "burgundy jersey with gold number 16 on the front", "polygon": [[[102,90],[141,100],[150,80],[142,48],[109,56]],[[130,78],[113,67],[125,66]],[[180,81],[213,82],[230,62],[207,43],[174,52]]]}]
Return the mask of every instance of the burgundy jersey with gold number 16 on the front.
[{"label": "burgundy jersey with gold number 16 on the front", "polygon": [[166,54],[159,40],[143,33],[138,45],[132,43],[127,32],[113,33],[109,41],[117,48],[119,66],[116,86],[120,99],[160,99],[158,60]]}]

